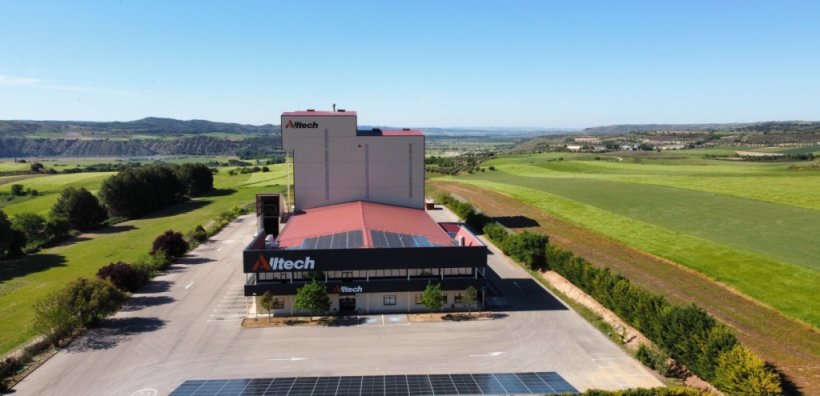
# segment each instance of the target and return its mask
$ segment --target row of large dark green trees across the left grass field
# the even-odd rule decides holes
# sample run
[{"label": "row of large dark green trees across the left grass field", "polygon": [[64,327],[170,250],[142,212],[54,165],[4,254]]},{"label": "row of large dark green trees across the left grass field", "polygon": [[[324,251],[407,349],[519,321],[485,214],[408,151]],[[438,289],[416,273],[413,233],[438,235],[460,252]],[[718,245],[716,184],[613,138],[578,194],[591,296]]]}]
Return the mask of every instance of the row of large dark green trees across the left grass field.
[{"label": "row of large dark green trees across the left grass field", "polygon": [[[47,216],[0,211],[0,259],[63,241],[72,232],[134,218],[213,190],[213,174],[202,164],[128,168],[103,181],[100,197],[84,187],[67,187]],[[12,185],[12,194],[26,191]],[[33,193],[32,193],[33,194]]]}]

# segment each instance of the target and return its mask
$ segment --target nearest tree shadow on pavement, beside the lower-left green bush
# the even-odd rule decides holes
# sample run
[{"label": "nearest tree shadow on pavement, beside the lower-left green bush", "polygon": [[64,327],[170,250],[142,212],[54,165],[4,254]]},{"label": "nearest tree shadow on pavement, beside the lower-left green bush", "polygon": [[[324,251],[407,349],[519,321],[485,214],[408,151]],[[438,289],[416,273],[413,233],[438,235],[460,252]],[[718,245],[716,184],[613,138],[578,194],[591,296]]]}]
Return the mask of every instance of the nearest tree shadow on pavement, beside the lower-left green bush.
[{"label": "nearest tree shadow on pavement, beside the lower-left green bush", "polygon": [[114,318],[102,321],[99,326],[66,347],[68,353],[111,349],[134,335],[157,331],[165,326],[159,318]]}]

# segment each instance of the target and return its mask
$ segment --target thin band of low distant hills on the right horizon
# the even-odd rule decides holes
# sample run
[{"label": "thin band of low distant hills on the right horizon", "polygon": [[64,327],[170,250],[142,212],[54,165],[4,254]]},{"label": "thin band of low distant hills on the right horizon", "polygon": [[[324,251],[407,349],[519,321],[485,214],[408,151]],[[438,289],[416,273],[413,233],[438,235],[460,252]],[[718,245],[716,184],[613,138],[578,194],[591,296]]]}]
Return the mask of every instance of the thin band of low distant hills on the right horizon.
[{"label": "thin band of low distant hills on the right horizon", "polygon": [[623,124],[586,128],[580,133],[589,135],[622,135],[629,132],[651,131],[740,131],[740,132],[789,132],[819,129],[814,121],[767,121],[727,124]]}]

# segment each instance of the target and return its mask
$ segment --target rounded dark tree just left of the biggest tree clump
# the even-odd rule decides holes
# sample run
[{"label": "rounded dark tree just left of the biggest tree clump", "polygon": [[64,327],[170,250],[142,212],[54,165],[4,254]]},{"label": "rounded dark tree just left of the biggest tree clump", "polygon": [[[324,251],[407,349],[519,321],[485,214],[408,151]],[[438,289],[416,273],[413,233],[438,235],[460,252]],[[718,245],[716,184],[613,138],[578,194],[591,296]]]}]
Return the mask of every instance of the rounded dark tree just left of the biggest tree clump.
[{"label": "rounded dark tree just left of the biggest tree clump", "polygon": [[105,208],[85,187],[67,187],[60,193],[51,215],[68,220],[71,228],[88,231],[100,226],[108,218]]}]

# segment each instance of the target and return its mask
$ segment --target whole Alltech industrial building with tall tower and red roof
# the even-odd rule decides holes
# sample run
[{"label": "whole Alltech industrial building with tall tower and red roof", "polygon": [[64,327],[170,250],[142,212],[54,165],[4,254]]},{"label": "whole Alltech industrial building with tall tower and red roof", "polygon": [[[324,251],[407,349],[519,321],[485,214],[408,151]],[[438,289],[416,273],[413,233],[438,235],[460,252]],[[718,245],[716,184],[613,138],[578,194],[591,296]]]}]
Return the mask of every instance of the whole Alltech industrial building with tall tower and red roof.
[{"label": "whole Alltech industrial building with tall tower and red roof", "polygon": [[319,279],[334,312],[424,310],[428,283],[445,309],[463,309],[468,286],[486,285],[487,248],[461,223],[424,209],[424,134],[358,130],[355,112],[282,114],[292,158],[292,207],[257,197],[259,233],[243,252],[245,295],[275,295],[277,314],[295,314],[297,290]]}]

